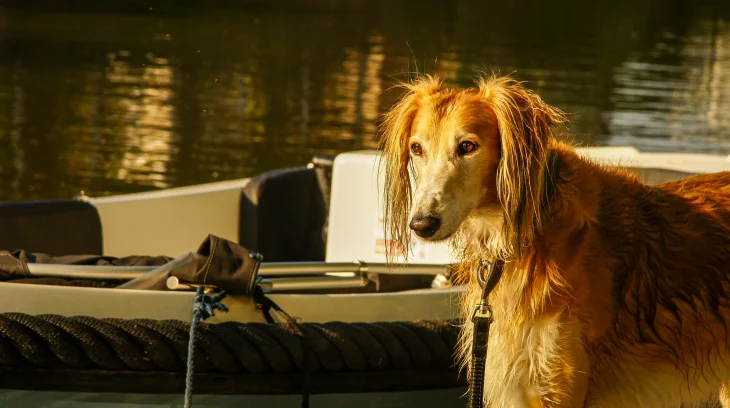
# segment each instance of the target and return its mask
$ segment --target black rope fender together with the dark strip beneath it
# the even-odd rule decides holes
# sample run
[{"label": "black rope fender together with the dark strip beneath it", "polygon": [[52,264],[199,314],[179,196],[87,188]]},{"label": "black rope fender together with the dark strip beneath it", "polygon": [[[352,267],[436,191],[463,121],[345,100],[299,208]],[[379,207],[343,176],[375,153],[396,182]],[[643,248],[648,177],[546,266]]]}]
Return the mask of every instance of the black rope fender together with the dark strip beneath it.
[{"label": "black rope fender together with the dark strip beneath it", "polygon": [[[200,322],[193,350],[195,392],[299,393],[305,369],[311,374],[309,390],[316,393],[464,385],[453,360],[457,321],[296,327],[300,334],[287,322]],[[181,392],[189,329],[179,320],[0,313],[0,384],[6,389]],[[221,375],[230,381],[221,381]]]}]

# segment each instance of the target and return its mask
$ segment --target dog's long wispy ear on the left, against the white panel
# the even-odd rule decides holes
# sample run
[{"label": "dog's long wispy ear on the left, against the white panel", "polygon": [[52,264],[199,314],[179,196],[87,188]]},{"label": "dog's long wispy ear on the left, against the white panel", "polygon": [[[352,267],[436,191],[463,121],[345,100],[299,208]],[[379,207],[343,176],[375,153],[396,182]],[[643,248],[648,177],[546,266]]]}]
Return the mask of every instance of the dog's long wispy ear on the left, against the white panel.
[{"label": "dog's long wispy ear on the left, against the white panel", "polygon": [[380,124],[381,170],[385,171],[383,203],[386,238],[386,258],[393,252],[408,254],[410,232],[408,214],[411,206],[411,178],[409,174],[410,149],[408,138],[420,107],[420,100],[442,89],[443,82],[432,76],[423,76],[409,84],[401,84],[406,93],[383,115]]}]

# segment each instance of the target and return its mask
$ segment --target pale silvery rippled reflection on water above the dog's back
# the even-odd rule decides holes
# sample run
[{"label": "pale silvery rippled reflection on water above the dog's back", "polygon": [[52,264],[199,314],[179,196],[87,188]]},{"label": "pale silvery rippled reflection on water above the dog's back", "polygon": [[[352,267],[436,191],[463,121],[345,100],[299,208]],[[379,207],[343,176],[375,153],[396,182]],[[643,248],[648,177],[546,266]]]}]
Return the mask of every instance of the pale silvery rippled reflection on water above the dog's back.
[{"label": "pale silvery rippled reflection on water above the dog's back", "polygon": [[718,18],[667,31],[615,70],[611,144],[644,150],[730,151],[730,26]]}]

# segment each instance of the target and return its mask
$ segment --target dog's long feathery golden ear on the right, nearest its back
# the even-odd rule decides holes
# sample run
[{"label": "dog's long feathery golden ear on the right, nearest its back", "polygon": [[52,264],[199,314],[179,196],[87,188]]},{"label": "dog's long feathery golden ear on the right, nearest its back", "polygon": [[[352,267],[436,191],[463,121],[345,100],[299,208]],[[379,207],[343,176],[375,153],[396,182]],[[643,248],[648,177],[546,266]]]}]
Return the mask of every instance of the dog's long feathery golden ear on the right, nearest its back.
[{"label": "dog's long feathery golden ear on the right, nearest its back", "polygon": [[545,197],[551,195],[547,190],[555,188],[549,174],[555,158],[549,157],[548,144],[554,126],[567,120],[562,111],[509,77],[482,78],[478,85],[499,129],[497,195],[505,214],[503,250],[519,254],[542,228],[549,204]]}]

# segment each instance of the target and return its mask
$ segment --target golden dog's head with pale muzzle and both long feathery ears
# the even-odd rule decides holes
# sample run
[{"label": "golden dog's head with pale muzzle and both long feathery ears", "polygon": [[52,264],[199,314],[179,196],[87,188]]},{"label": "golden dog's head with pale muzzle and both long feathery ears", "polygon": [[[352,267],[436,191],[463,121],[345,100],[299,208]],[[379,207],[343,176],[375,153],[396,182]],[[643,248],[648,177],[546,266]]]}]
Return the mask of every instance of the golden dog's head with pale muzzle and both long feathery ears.
[{"label": "golden dog's head with pale muzzle and both long feathery ears", "polygon": [[402,247],[409,229],[441,241],[470,226],[519,251],[540,222],[547,146],[564,115],[510,78],[477,85],[426,76],[385,114],[386,232]]}]

